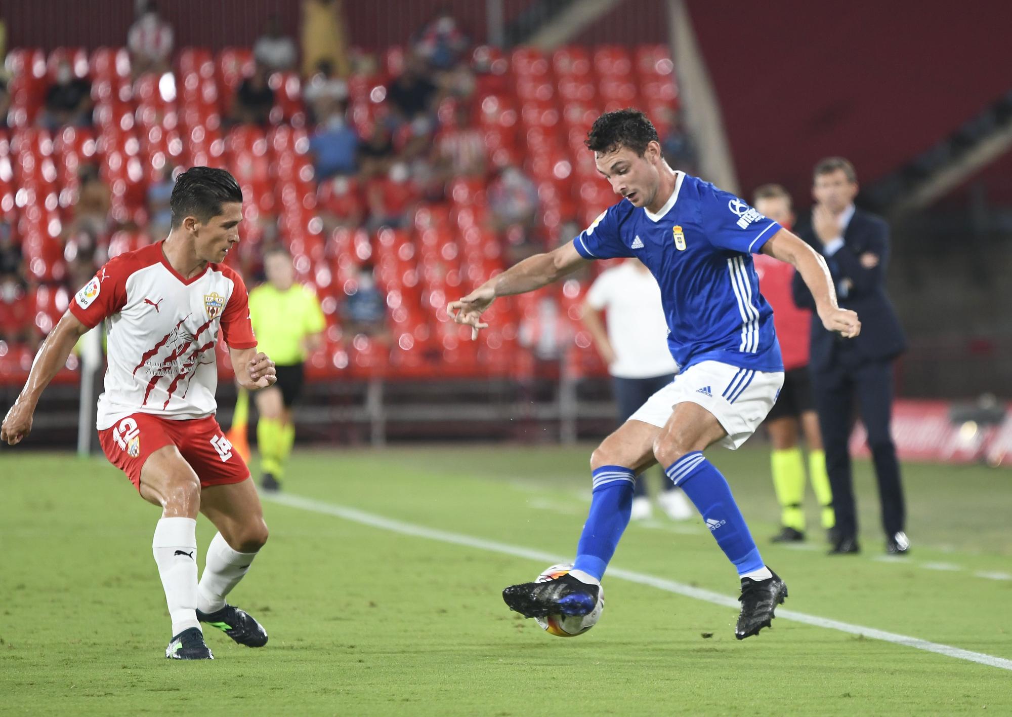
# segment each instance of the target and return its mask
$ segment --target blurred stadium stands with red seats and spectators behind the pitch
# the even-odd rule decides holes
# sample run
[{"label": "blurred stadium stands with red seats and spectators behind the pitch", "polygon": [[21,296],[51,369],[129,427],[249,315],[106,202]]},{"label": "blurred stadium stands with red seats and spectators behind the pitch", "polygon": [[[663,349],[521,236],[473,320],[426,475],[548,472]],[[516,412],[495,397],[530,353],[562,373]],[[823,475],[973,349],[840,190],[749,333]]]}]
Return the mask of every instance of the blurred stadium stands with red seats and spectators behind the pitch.
[{"label": "blurred stadium stands with red seats and spectators behind the pitch", "polygon": [[[814,162],[849,158],[858,204],[892,222],[890,291],[910,337],[898,392],[925,401],[898,407],[902,455],[1010,453],[1012,93],[980,67],[1012,59],[1007,4],[984,3],[981,22],[913,1],[841,17],[799,0],[761,12],[694,0],[179,0],[153,5],[152,27],[170,33],[139,26],[138,47],[164,58],[146,64],[128,47],[145,6],[3,4],[5,405],[69,293],[107,257],[161,238],[171,172],[208,164],[246,197],[230,261],[252,286],[264,247],[284,245],[327,314],[302,437],[599,435],[612,419],[606,373],[579,320],[593,275],[498,303],[477,343],[443,307],[613,204],[582,142],[601,110],[636,105],[674,166],[746,196],[780,182],[798,212]],[[254,48],[273,64],[267,89],[248,79],[260,75]],[[71,90],[64,110],[49,103],[61,68],[79,99]],[[401,78],[406,68],[418,79]],[[344,305],[363,265],[387,312],[355,333]],[[224,351],[222,369],[227,423]],[[36,445],[73,442],[82,373],[72,358],[48,392]]]}]

